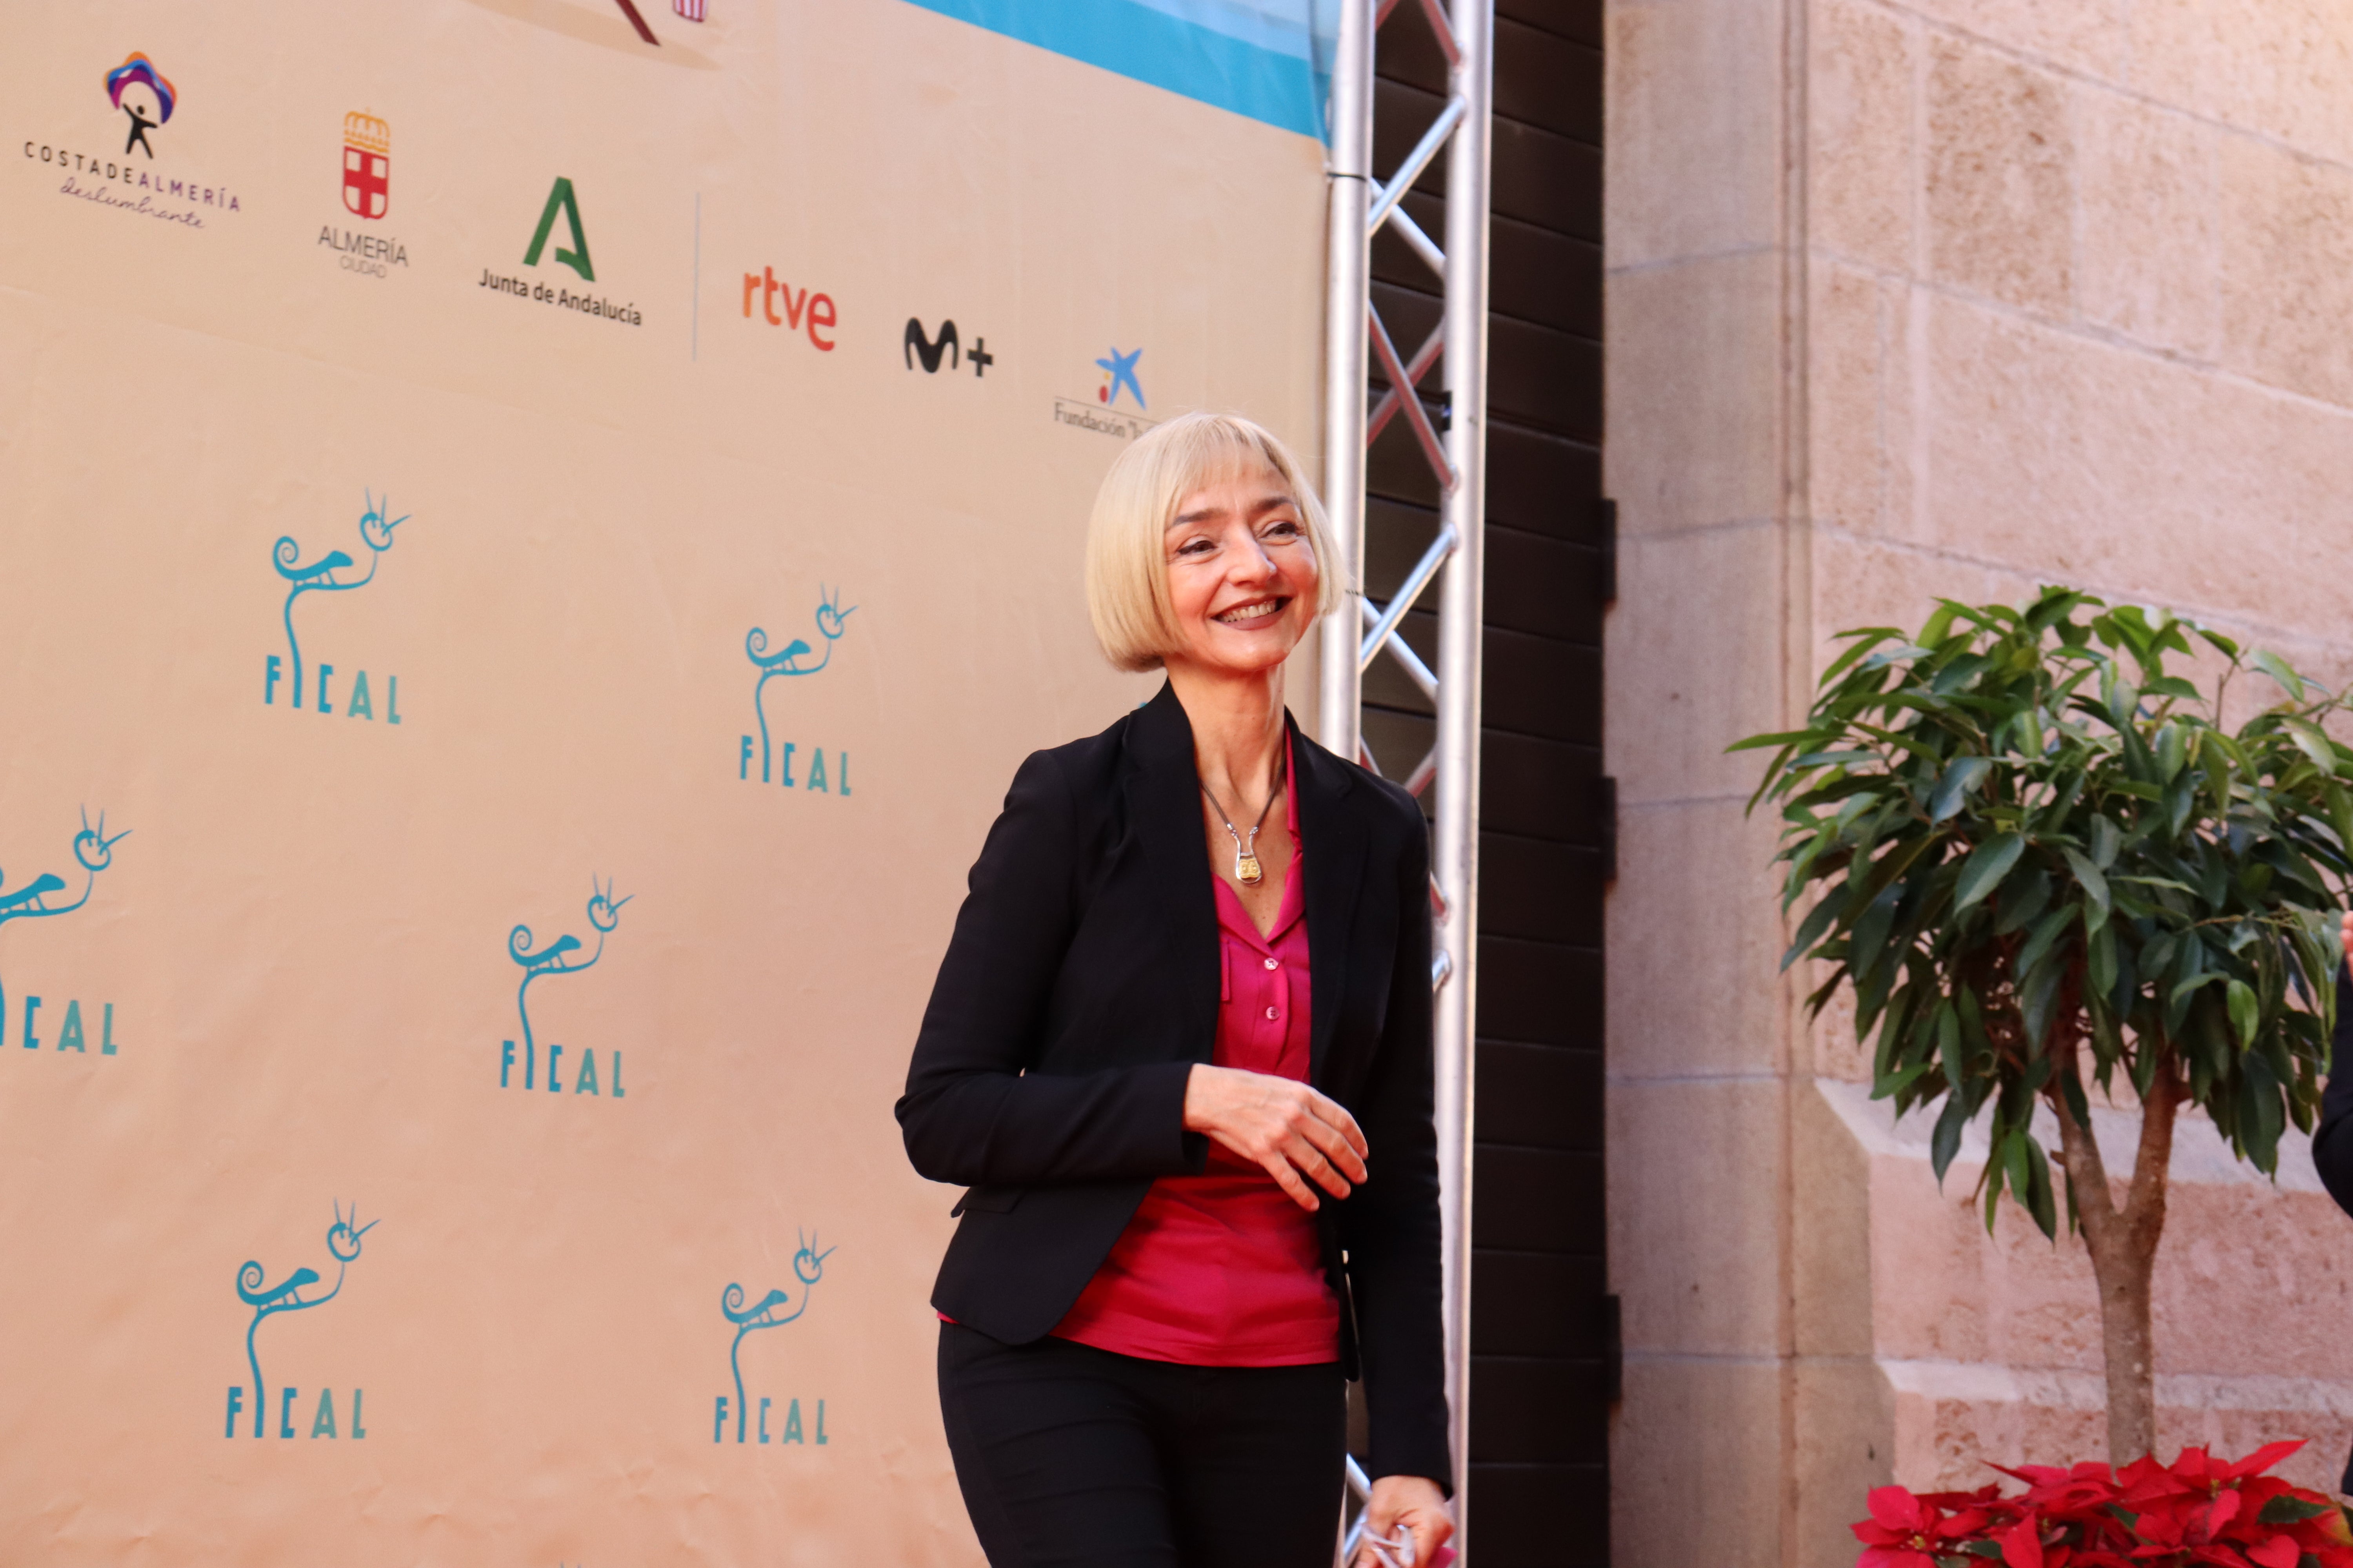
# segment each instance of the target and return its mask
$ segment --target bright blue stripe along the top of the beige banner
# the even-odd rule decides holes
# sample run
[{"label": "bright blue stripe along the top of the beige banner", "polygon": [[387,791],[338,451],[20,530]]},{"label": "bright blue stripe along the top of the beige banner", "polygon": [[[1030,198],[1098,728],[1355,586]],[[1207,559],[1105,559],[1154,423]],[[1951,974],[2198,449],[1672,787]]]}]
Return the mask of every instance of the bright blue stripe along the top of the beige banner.
[{"label": "bright blue stripe along the top of the beige banner", "polygon": [[1240,40],[1155,5],[1139,0],[908,0],[908,5],[1285,132],[1322,136],[1322,94],[1304,54]]}]

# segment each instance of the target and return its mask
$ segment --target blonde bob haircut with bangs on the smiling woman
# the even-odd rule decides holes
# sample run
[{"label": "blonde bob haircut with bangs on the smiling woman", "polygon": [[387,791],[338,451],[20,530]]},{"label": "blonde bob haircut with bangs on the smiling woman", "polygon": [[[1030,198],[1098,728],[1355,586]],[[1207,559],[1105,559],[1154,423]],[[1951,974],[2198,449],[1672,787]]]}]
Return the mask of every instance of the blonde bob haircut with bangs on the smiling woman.
[{"label": "blonde bob haircut with bangs on the smiling woman", "polygon": [[1167,527],[1186,496],[1252,468],[1271,468],[1299,503],[1315,552],[1315,614],[1339,604],[1332,529],[1292,449],[1273,430],[1235,414],[1181,414],[1146,430],[1118,456],[1087,517],[1087,616],[1111,663],[1158,670],[1181,646],[1176,602],[1169,597]]}]

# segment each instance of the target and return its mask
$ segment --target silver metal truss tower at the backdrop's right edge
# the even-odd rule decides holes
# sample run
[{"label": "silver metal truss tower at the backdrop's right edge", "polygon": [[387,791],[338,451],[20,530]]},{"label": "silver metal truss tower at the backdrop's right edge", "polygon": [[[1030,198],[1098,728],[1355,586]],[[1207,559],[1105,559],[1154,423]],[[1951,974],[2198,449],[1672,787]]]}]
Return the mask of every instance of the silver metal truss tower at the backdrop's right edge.
[{"label": "silver metal truss tower at the backdrop's right edge", "polygon": [[[1374,35],[1400,0],[1341,0],[1332,63],[1332,228],[1325,294],[1325,503],[1341,552],[1348,604],[1322,625],[1320,738],[1381,771],[1362,736],[1362,677],[1381,658],[1438,705],[1438,741],[1402,778],[1414,795],[1435,788],[1431,905],[1435,957],[1431,992],[1438,1048],[1438,1175],[1445,1220],[1447,1406],[1454,1448],[1454,1509],[1471,1500],[1471,1030],[1478,994],[1478,738],[1480,557],[1487,524],[1487,169],[1494,80],[1494,0],[1412,0],[1447,56],[1447,101],[1386,179],[1372,167]],[[1445,249],[1405,212],[1440,150],[1447,158]],[[1372,235],[1388,226],[1428,263],[1445,289],[1445,317],[1409,360],[1372,308]],[[1367,386],[1367,357],[1388,390]],[[1414,390],[1440,364],[1440,416]],[[1374,604],[1365,595],[1365,449],[1402,416],[1438,477],[1438,536],[1405,583]],[[1400,632],[1405,614],[1438,583],[1438,670]],[[1395,759],[1391,759],[1395,762]],[[1466,1547],[1468,1530],[1457,1537]]]}]

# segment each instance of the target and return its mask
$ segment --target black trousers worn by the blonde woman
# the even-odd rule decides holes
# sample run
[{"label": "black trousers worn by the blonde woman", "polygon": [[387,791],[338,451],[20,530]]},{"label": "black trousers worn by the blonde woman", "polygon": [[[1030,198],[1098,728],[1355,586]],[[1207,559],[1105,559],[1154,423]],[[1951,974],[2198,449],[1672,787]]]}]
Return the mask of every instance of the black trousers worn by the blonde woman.
[{"label": "black trousers worn by the blonde woman", "polygon": [[991,1568],[1332,1563],[1337,1361],[1176,1366],[941,1324],[939,1413]]}]

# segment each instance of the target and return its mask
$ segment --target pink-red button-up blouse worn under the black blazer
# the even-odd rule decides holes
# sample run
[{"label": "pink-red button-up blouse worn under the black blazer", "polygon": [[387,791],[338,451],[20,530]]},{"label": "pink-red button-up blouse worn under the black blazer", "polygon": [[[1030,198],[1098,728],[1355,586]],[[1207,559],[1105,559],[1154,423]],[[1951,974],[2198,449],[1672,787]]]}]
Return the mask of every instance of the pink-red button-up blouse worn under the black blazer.
[{"label": "pink-red button-up blouse worn under the black blazer", "polygon": [[[1308,1077],[1308,924],[1299,795],[1292,867],[1266,936],[1217,884],[1219,1067]],[[1332,1201],[1325,1197],[1325,1201]],[[1188,1366],[1313,1366],[1339,1359],[1339,1298],[1322,1274],[1315,1215],[1221,1143],[1202,1175],[1162,1175],[1071,1312],[1064,1340]]]}]

